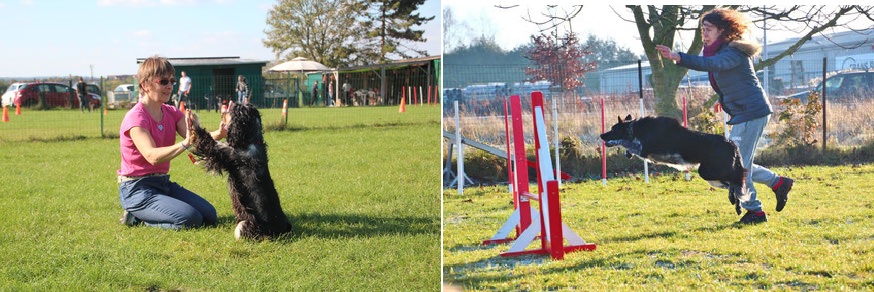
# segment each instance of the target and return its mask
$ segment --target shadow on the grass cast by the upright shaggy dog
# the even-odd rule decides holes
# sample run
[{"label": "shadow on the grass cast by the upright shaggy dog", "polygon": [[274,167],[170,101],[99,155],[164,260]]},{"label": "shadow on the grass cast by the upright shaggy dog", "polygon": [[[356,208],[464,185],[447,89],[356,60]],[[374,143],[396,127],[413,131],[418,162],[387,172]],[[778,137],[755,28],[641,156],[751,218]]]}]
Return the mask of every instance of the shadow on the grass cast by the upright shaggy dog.
[{"label": "shadow on the grass cast by the upright shaggy dog", "polygon": [[[377,236],[412,236],[440,234],[440,219],[429,217],[386,217],[355,214],[302,213],[286,214],[291,221],[291,234],[278,242],[294,242],[301,238],[362,238]],[[234,216],[219,217],[218,226],[233,229]]]}]

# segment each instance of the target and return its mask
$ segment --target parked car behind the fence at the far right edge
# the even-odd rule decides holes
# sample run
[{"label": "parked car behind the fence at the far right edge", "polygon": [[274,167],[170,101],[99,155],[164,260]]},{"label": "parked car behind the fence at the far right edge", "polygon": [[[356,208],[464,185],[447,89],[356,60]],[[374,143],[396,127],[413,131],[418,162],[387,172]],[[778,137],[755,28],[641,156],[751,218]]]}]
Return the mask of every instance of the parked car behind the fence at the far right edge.
[{"label": "parked car behind the fence at the far right edge", "polygon": [[[829,101],[874,98],[874,72],[842,72],[825,79],[826,98]],[[822,82],[816,88],[778,99],[799,99],[807,103],[811,92],[822,92]]]}]

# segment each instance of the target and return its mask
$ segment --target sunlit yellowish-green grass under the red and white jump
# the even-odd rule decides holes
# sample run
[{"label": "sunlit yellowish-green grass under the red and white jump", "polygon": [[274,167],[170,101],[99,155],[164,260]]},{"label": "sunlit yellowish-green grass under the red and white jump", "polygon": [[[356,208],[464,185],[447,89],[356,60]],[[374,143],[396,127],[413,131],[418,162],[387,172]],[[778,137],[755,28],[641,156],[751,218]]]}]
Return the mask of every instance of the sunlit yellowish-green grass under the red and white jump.
[{"label": "sunlit yellowish-green grass under the red and white jump", "polygon": [[769,222],[755,226],[736,224],[725,190],[680,173],[650,184],[564,184],[564,221],[597,249],[563,261],[502,258],[509,244],[480,245],[512,211],[506,186],[444,190],[445,282],[504,291],[874,289],[874,165],[775,170],[795,188],[777,213],[773,192],[757,185]]}]

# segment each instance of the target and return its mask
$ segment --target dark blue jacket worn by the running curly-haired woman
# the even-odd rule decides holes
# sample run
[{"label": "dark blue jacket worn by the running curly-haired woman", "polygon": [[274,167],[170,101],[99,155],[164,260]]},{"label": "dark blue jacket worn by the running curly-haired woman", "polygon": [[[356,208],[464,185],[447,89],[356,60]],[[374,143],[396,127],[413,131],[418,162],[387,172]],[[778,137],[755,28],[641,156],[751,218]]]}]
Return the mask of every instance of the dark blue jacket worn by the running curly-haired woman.
[{"label": "dark blue jacket worn by the running curly-haired woman", "polygon": [[753,57],[761,47],[755,43],[733,41],[719,48],[711,57],[679,53],[679,66],[713,73],[719,90],[719,103],[731,116],[729,125],[736,125],[771,114],[771,103],[765,96],[753,70]]}]

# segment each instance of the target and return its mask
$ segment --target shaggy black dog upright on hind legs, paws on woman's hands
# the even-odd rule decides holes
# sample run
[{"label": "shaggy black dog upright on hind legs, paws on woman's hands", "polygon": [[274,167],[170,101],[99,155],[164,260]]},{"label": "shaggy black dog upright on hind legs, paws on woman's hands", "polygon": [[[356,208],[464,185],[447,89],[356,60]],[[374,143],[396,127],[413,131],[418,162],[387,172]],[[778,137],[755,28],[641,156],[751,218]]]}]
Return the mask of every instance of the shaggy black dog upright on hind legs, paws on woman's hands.
[{"label": "shaggy black dog upright on hind legs, paws on woman's hands", "polygon": [[291,223],[279,204],[279,194],[267,168],[261,113],[253,105],[231,105],[228,109],[227,143],[215,141],[199,125],[191,150],[207,171],[228,174],[228,192],[237,228],[237,239],[272,238],[291,231]]}]

